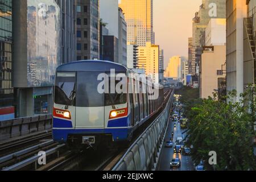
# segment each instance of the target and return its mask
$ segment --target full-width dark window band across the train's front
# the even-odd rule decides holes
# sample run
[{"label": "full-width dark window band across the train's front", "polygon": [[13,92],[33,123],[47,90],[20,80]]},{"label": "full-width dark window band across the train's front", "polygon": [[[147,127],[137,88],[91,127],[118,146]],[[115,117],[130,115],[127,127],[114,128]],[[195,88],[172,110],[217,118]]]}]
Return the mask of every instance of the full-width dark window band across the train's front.
[{"label": "full-width dark window band across the train's front", "polygon": [[[122,92],[121,94],[117,92],[111,93],[110,78],[109,84],[106,84],[109,85],[109,93],[98,92],[98,85],[102,82],[102,80],[98,80],[98,75],[101,73],[58,72],[55,86],[55,103],[77,107],[102,107],[125,104],[127,102],[127,92]],[[109,73],[106,73],[106,75],[109,75]],[[119,80],[115,81],[115,86],[119,82]],[[123,85],[126,86],[126,81]],[[121,86],[121,89],[126,90],[127,88],[122,88]]]}]

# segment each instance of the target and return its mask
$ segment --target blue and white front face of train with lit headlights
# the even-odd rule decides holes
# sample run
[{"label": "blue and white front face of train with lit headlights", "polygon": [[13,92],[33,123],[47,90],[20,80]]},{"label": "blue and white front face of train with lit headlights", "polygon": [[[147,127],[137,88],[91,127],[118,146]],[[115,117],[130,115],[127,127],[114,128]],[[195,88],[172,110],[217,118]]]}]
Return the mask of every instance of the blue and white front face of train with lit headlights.
[{"label": "blue and white front face of train with lit headlights", "polygon": [[126,67],[108,61],[77,61],[57,68],[53,140],[92,147],[126,141],[131,129],[126,75]]}]

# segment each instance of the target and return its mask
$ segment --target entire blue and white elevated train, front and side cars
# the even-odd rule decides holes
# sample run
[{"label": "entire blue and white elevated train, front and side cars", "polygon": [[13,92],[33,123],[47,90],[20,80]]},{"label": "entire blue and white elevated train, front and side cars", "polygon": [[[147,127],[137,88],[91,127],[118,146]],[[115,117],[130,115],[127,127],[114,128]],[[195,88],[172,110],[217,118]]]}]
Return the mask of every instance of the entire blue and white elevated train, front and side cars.
[{"label": "entire blue and white elevated train, front and side cars", "polygon": [[[109,61],[76,61],[58,67],[53,140],[90,146],[131,140],[164,101],[162,86],[156,89],[147,79],[130,77],[134,73]],[[153,96],[156,90],[158,96]]]}]

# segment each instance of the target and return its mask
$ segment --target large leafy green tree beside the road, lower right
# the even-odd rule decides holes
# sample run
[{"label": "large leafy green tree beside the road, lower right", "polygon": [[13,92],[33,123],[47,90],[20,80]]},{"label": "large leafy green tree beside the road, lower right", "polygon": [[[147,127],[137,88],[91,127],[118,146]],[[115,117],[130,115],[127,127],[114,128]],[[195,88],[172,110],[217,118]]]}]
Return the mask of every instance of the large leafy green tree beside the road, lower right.
[{"label": "large leafy green tree beside the road, lower right", "polygon": [[[228,102],[214,97],[198,101],[185,110],[188,115],[187,144],[193,146],[192,159],[199,163],[205,160],[208,169],[209,152],[217,152],[217,170],[247,170],[256,169],[253,154],[254,137],[253,119],[255,111],[251,101],[250,90],[241,94],[239,101],[234,101],[236,92],[232,92],[225,99]],[[207,166],[208,165],[208,166]]]}]

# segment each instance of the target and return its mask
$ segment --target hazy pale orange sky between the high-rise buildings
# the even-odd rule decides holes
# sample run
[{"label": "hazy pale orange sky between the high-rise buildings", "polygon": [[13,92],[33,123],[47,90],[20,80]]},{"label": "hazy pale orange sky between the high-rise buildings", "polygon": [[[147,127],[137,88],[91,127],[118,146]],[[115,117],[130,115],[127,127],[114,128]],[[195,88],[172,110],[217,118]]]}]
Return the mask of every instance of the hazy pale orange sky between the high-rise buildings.
[{"label": "hazy pale orange sky between the high-rise buildings", "polygon": [[[202,0],[153,0],[155,44],[164,49],[164,68],[172,56],[188,56],[192,19]],[[159,3],[160,2],[160,3]]]}]

